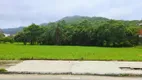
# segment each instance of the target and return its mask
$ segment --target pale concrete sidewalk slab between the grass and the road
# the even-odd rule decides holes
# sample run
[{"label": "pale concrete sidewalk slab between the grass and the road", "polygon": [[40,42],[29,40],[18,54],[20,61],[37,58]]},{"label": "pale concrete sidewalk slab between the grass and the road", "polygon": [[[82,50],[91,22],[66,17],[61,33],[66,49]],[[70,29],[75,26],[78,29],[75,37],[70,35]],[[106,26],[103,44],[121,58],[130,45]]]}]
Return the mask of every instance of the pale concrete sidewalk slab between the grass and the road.
[{"label": "pale concrete sidewalk slab between the grass and the road", "polygon": [[142,75],[142,62],[27,60],[7,70],[18,73]]}]

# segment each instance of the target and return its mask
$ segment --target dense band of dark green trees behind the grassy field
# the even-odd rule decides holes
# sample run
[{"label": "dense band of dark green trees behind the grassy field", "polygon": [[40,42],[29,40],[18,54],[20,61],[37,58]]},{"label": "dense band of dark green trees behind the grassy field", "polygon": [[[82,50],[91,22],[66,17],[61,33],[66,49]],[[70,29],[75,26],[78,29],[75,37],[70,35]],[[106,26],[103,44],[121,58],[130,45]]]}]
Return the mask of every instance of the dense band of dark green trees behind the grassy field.
[{"label": "dense band of dark green trees behind the grassy field", "polygon": [[[66,18],[67,19],[67,18]],[[139,43],[138,21],[83,17],[46,25],[31,24],[15,36],[17,42],[40,45],[128,47]]]}]

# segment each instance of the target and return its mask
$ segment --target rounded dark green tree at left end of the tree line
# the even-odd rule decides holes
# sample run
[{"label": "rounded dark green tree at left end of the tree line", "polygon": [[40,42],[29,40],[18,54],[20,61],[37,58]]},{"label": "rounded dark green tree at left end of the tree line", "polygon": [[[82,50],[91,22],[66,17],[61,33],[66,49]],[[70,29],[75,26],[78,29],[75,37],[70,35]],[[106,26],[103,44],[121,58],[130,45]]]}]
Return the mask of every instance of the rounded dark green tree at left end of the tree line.
[{"label": "rounded dark green tree at left end of the tree line", "polygon": [[30,42],[31,45],[37,44],[40,40],[40,36],[43,32],[43,28],[39,25],[31,24],[23,29],[23,31],[16,34],[15,41],[23,42],[25,45]]}]

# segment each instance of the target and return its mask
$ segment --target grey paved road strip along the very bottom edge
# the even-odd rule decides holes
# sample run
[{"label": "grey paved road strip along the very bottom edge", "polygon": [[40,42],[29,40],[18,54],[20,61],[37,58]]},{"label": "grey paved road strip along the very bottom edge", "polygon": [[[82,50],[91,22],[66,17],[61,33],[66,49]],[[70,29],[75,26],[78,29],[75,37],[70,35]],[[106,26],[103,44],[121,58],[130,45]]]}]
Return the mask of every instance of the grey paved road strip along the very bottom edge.
[{"label": "grey paved road strip along the very bottom edge", "polygon": [[142,77],[105,77],[83,75],[0,75],[0,80],[142,80]]}]

